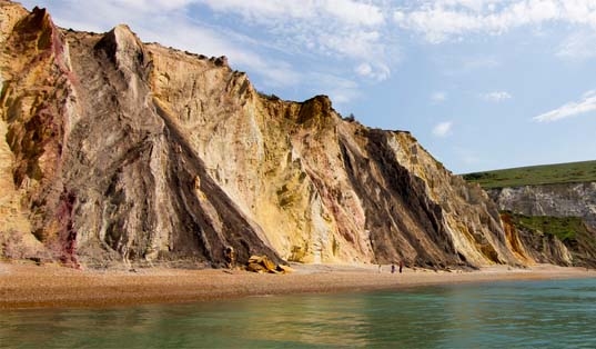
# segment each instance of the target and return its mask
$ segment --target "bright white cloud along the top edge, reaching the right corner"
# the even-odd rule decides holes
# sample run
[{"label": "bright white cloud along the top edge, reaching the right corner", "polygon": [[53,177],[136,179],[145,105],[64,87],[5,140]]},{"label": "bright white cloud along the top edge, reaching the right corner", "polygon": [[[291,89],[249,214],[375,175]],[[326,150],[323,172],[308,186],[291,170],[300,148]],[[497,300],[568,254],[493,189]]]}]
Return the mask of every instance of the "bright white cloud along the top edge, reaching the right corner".
[{"label": "bright white cloud along the top edge, reaching the right corner", "polygon": [[547,22],[596,28],[593,0],[438,0],[397,9],[393,20],[420,32],[432,43],[457,40],[474,33],[501,34],[524,26]]}]

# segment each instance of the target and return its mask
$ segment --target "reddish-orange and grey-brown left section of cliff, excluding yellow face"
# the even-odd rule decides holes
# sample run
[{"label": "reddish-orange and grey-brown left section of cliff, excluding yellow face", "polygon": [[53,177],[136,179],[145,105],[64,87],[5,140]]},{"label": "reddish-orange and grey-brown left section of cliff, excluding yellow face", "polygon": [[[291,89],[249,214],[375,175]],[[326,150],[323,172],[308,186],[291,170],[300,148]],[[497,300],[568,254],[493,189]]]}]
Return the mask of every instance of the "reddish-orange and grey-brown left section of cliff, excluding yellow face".
[{"label": "reddish-orange and grey-brown left section of cliff, excluding yellow face", "polygon": [[[277,258],[161,116],[151,98],[150,56],[127,27],[102,36],[65,32],[44,10],[18,9],[2,2],[3,26],[12,28],[1,57],[3,149],[11,159],[2,178],[12,189],[6,201],[18,206],[3,218],[23,221],[2,231],[11,236],[9,252],[74,266],[81,258],[97,266],[219,265],[226,246],[240,259]],[[44,250],[13,247],[19,236],[33,236]]]}]

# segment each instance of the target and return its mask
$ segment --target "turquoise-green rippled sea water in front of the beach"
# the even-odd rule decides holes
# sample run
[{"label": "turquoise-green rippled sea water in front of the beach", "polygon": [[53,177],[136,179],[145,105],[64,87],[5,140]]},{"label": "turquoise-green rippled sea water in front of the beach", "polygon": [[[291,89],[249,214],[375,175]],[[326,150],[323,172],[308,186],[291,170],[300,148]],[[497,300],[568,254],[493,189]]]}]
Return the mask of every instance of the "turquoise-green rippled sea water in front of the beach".
[{"label": "turquoise-green rippled sea water in front of the beach", "polygon": [[1,348],[596,348],[596,279],[0,312]]}]

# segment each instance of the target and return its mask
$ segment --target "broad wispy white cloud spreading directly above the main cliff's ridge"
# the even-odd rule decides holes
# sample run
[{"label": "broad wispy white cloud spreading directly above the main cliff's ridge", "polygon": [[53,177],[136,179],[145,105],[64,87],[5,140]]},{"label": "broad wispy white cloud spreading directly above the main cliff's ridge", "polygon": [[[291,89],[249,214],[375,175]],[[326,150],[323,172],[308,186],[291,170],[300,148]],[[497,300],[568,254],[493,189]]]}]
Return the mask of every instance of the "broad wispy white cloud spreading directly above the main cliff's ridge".
[{"label": "broad wispy white cloud spreading directly above the main cliff's ridge", "polygon": [[[295,86],[353,100],[358,84],[344,81],[351,67],[363,79],[383,81],[397,61],[387,41],[381,1],[363,0],[22,0],[47,7],[59,26],[104,32],[128,23],[143,41],[206,56],[226,56],[260,88]],[[384,3],[384,2],[383,2]],[[386,3],[385,3],[386,4]],[[213,11],[215,16],[213,14]],[[233,21],[221,23],[216,17]],[[224,21],[224,22],[225,22]],[[306,60],[299,67],[295,62]],[[332,71],[330,73],[330,71]],[[323,73],[325,72],[325,73]],[[333,86],[313,76],[335,76]]]}]

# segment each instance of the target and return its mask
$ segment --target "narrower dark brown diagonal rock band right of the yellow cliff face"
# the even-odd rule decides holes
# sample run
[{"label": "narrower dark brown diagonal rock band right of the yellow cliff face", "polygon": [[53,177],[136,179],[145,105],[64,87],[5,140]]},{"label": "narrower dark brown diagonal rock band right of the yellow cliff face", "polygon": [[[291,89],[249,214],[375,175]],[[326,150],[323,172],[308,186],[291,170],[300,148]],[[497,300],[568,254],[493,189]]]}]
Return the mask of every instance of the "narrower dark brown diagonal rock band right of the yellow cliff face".
[{"label": "narrower dark brown diagonal rock band right of the yellow cliff face", "polygon": [[[370,158],[351,151],[345,139],[341,139],[341,150],[352,187],[364,201],[376,259],[392,261],[398,257],[408,265],[431,268],[462,262],[442,226],[441,208],[422,197],[422,180],[397,163],[386,132],[370,130],[363,134]],[[383,182],[364,174],[375,172]]]}]

